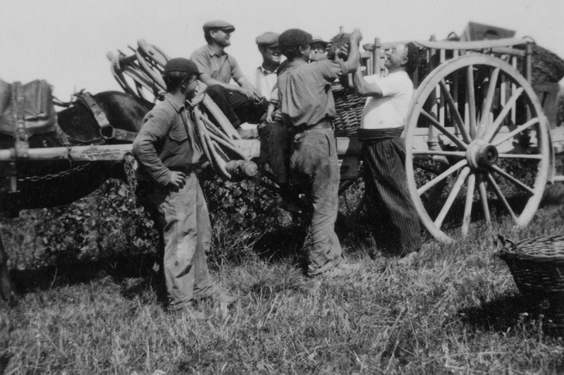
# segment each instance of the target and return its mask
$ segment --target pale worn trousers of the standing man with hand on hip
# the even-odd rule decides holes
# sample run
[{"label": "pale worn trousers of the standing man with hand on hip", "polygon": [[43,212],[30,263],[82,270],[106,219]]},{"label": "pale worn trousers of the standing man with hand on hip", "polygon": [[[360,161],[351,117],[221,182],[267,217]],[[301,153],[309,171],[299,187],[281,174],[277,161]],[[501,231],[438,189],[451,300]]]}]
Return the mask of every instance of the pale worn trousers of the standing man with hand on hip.
[{"label": "pale worn trousers of the standing man with hand on hip", "polygon": [[137,198],[159,229],[169,308],[183,309],[212,293],[207,268],[212,226],[196,175],[180,189],[139,181]]}]

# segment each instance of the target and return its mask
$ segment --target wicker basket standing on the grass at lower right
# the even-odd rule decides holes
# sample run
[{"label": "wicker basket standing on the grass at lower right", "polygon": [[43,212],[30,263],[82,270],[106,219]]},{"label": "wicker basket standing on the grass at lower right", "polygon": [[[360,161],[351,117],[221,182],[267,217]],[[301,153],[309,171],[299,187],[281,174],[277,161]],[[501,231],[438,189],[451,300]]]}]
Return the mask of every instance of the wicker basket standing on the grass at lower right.
[{"label": "wicker basket standing on the grass at lower right", "polygon": [[520,292],[556,326],[564,326],[564,235],[513,242],[499,236],[498,255],[508,265]]}]

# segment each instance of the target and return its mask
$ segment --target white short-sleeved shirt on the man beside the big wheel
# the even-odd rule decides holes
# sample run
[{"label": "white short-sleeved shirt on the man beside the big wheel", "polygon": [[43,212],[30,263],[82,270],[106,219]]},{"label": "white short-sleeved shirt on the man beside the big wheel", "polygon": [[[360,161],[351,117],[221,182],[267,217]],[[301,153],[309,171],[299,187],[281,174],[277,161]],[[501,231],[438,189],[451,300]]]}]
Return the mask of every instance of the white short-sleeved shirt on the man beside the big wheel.
[{"label": "white short-sleeved shirt on the man beside the big wheel", "polygon": [[369,83],[376,83],[382,97],[369,97],[364,104],[360,128],[386,129],[405,125],[407,111],[413,96],[413,84],[403,70],[390,73],[386,77],[369,75],[364,77]]}]

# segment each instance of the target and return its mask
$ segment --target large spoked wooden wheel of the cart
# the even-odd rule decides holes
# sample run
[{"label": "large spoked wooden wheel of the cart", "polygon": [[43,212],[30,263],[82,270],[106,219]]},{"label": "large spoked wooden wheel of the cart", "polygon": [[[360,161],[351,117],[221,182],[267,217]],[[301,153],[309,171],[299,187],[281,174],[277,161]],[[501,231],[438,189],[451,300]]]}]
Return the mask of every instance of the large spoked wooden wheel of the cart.
[{"label": "large spoked wooden wheel of the cart", "polygon": [[442,242],[493,216],[527,226],[539,207],[546,119],[529,82],[501,59],[463,55],[431,71],[412,100],[405,146],[415,207]]}]

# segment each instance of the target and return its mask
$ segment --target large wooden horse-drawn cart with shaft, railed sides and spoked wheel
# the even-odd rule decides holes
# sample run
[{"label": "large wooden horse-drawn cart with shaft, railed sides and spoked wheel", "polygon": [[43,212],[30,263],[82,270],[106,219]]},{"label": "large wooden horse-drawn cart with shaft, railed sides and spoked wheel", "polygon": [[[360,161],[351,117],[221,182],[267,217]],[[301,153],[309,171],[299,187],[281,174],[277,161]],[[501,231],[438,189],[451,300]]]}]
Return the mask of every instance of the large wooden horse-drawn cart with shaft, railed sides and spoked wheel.
[{"label": "large wooden horse-drawn cart with shaft, railed sides and spoked wheel", "polygon": [[[383,72],[384,51],[397,42],[365,44],[366,73]],[[142,43],[140,44],[142,45]],[[114,74],[133,78],[137,93],[157,92],[154,79],[132,70],[145,54],[111,54]],[[417,42],[424,63],[415,72],[415,91],[407,118],[407,181],[425,228],[442,242],[480,230],[497,216],[517,226],[533,218],[547,183],[556,176],[555,155],[564,149],[564,128],[556,123],[558,84],[531,82],[531,44],[526,39],[480,42]],[[423,56],[423,55],[422,55]],[[517,70],[520,66],[521,71]],[[118,71],[116,73],[116,69]],[[426,72],[429,72],[426,74]],[[424,79],[422,75],[426,75]],[[147,98],[148,99],[148,98]],[[260,156],[260,141],[240,139],[227,131],[249,159]],[[30,159],[74,161],[121,160],[130,145],[32,149]],[[338,137],[341,160],[341,209],[362,217],[364,176],[361,145],[355,137]],[[0,160],[9,159],[0,150]]]}]

